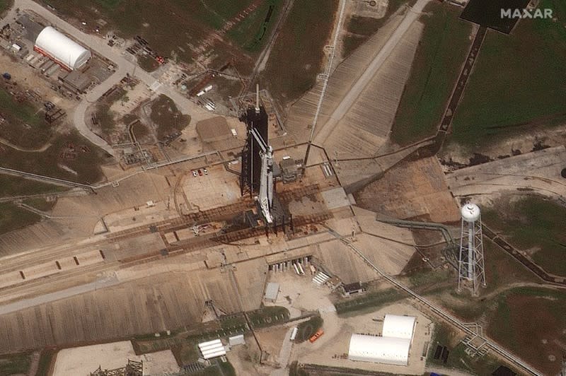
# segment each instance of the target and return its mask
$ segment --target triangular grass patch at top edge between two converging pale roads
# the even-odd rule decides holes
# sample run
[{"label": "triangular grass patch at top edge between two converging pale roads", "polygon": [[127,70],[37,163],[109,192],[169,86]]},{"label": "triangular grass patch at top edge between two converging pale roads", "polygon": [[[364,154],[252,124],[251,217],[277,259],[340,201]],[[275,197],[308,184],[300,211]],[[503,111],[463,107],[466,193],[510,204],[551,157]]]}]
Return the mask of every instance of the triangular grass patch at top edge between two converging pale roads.
[{"label": "triangular grass patch at top edge between two converging pale roads", "polygon": [[389,20],[389,17],[405,4],[414,4],[416,0],[390,0],[387,11],[383,18],[351,16],[345,23],[347,34],[343,40],[342,56],[347,57],[354,49],[357,49],[366,40],[376,33],[381,26]]}]

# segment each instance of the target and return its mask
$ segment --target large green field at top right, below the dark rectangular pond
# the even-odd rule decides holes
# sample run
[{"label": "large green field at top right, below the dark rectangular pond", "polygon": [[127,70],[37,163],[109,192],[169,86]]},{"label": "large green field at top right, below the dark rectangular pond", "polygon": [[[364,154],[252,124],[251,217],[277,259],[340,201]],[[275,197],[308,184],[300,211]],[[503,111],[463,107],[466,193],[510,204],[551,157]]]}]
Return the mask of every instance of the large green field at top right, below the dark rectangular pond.
[{"label": "large green field at top right, below the dark rectangular pond", "polygon": [[473,148],[529,131],[536,119],[566,122],[566,2],[542,0],[538,7],[551,8],[557,20],[519,20],[511,35],[487,32],[451,141]]}]

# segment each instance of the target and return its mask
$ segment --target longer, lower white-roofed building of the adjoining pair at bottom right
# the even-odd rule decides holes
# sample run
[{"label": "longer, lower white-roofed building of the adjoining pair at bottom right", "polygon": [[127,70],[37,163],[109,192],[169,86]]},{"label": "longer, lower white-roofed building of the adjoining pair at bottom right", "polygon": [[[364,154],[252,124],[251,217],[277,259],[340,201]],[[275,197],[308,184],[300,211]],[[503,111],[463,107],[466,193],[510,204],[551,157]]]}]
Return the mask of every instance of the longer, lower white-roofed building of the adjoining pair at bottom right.
[{"label": "longer, lower white-roofed building of the adjoining pair at bottom right", "polygon": [[409,364],[410,339],[352,334],[348,359],[361,362]]}]

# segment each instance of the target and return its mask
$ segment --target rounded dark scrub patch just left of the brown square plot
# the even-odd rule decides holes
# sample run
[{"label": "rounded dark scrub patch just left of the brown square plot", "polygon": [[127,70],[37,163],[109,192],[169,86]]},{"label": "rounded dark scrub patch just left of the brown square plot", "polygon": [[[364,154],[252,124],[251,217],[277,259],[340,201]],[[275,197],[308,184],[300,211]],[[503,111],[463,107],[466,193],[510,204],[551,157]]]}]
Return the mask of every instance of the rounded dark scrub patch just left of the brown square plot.
[{"label": "rounded dark scrub patch just left of the brown square plot", "polygon": [[157,126],[157,138],[163,140],[185,129],[190,123],[190,116],[182,114],[171,98],[161,94],[151,104],[151,121]]}]

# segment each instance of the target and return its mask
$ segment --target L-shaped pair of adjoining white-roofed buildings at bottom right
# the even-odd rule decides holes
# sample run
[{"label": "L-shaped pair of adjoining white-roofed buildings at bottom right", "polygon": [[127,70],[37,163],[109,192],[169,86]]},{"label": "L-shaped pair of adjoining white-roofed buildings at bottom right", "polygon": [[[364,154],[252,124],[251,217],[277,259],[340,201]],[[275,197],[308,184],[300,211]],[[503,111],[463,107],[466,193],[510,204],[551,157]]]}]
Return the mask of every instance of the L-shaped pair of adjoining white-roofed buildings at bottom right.
[{"label": "L-shaped pair of adjoining white-roofed buildings at bottom right", "polygon": [[348,359],[361,362],[408,365],[416,317],[386,315],[383,336],[352,334]]}]

